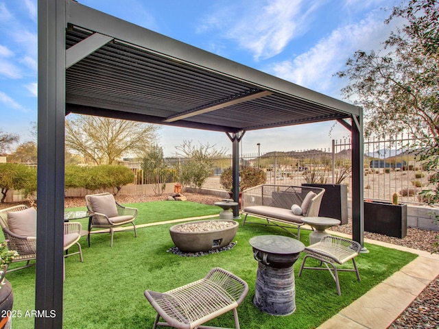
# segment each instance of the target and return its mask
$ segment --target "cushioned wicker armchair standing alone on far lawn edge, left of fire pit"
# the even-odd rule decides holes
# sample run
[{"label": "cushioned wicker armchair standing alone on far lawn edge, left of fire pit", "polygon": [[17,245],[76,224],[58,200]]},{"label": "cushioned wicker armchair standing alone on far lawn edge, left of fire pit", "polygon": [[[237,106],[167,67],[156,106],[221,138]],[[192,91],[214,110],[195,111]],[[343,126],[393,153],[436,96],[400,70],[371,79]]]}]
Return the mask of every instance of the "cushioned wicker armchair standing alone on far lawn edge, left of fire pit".
[{"label": "cushioned wicker armchair standing alone on far lawn edge, left of fire pit", "polygon": [[[132,224],[134,236],[137,237],[134,219],[137,217],[137,209],[124,207],[115,201],[111,193],[99,193],[85,196],[86,206],[93,213],[88,223],[88,247],[90,247],[90,233],[93,228],[108,228],[112,236],[113,229],[118,226]],[[130,228],[131,229],[131,228]]]}]

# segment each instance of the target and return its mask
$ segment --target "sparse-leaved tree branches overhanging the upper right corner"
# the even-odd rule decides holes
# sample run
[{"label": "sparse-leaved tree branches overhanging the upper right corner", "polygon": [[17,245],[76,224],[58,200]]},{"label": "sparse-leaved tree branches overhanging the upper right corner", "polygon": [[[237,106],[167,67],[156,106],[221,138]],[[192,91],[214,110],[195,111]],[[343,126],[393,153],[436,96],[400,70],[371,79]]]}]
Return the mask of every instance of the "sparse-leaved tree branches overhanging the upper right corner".
[{"label": "sparse-leaved tree branches overhanging the upper right corner", "polygon": [[438,12],[436,0],[395,7],[387,22],[407,20],[379,51],[357,51],[338,72],[350,84],[342,95],[362,106],[366,134],[407,130],[439,136]]}]

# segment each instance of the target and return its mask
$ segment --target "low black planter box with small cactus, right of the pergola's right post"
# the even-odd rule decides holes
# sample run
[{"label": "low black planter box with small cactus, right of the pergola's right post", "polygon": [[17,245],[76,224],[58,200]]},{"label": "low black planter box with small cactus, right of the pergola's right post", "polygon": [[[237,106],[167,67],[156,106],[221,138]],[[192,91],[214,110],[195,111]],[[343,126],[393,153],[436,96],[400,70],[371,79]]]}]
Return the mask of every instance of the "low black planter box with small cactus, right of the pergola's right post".
[{"label": "low black planter box with small cactus, right of the pergola's right post", "polygon": [[407,204],[364,202],[364,230],[402,239],[407,235]]}]

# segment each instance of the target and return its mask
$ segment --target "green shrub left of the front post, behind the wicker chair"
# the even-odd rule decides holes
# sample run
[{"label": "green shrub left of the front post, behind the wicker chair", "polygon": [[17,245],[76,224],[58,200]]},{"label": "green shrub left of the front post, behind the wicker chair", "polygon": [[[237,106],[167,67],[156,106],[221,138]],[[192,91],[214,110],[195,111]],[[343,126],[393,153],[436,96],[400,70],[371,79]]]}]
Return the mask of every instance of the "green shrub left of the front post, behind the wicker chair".
[{"label": "green shrub left of the front post, behind the wicker chair", "polygon": [[11,189],[21,190],[26,197],[31,197],[36,191],[36,169],[23,164],[0,163],[0,189],[1,203]]}]

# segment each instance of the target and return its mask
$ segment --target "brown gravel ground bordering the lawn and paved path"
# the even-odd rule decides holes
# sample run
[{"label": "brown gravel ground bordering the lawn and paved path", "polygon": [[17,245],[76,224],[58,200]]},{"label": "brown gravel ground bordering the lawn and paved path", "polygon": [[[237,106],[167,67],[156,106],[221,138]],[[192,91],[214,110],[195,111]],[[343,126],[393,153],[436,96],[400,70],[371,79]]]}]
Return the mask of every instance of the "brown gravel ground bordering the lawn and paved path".
[{"label": "brown gravel ground bordering the lawn and paved path", "polygon": [[[221,197],[215,197],[213,195],[202,195],[185,193],[185,196],[189,201],[198,202],[201,204],[210,204],[221,201]],[[117,202],[121,204],[132,202],[150,202],[165,200],[167,195],[154,196],[154,195],[118,195],[116,197]],[[15,204],[0,204],[1,208],[7,208],[14,206]],[[85,206],[85,200],[83,197],[67,197],[64,202],[65,208]],[[351,234],[352,223],[349,221],[344,226],[333,227],[331,230]],[[439,232],[429,230],[419,230],[416,228],[408,228],[407,236],[403,239],[397,239],[391,236],[385,236],[376,233],[364,232],[366,239],[372,239],[377,241],[383,241],[392,243],[394,245],[402,245],[413,249],[424,250],[427,252],[432,251],[431,245],[434,243],[436,236]],[[403,328],[436,328],[439,329],[439,276],[435,280],[431,281],[418,297],[408,306],[403,313],[396,319],[389,327],[392,329]]]}]

